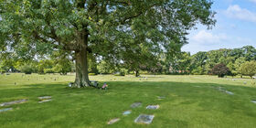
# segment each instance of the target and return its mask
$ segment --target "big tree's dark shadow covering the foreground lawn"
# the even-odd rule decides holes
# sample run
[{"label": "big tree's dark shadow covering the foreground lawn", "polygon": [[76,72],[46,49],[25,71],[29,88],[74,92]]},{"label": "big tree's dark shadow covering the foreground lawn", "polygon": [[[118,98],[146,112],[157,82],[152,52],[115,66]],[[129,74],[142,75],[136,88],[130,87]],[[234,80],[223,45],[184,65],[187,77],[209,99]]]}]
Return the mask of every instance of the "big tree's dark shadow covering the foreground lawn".
[{"label": "big tree's dark shadow covering the foreground lawn", "polygon": [[[251,87],[171,81],[108,81],[107,83],[109,84],[107,91],[95,88],[71,89],[67,84],[35,84],[26,85],[27,88],[3,89],[0,90],[0,102],[19,97],[27,98],[29,100],[27,103],[19,105],[22,112],[16,111],[16,117],[13,117],[11,112],[6,113],[6,117],[14,118],[13,122],[16,121],[17,124],[46,123],[46,127],[54,124],[60,127],[104,127],[110,119],[120,117],[123,111],[130,110],[130,105],[136,101],[142,101],[143,106],[134,109],[125,121],[122,119],[121,123],[117,123],[117,127],[123,125],[138,127],[133,120],[140,113],[155,114],[152,127],[170,123],[176,127],[186,127],[195,122],[194,118],[207,120],[208,115],[212,118],[211,121],[205,121],[207,124],[223,122],[224,126],[231,117],[234,123],[243,120],[242,117],[244,122],[249,122],[248,118],[252,120],[256,117],[256,105],[251,103],[252,99],[256,99],[256,89]],[[234,95],[219,91],[219,87],[232,91]],[[38,104],[37,97],[44,95],[52,96],[53,101]],[[163,96],[165,99],[158,100],[157,96]],[[159,104],[160,109],[153,112],[145,110],[149,104]],[[24,116],[24,113],[27,113],[27,116]],[[2,118],[0,121],[5,123],[7,119]],[[49,119],[54,120],[42,122]]]}]

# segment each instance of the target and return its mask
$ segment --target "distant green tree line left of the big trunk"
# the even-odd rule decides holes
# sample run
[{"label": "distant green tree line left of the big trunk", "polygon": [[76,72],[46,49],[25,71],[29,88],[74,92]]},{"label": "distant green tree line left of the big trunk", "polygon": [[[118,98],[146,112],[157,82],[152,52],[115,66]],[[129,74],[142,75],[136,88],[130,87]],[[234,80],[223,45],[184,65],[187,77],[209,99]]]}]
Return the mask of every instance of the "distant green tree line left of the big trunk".
[{"label": "distant green tree line left of the big trunk", "polygon": [[[58,57],[56,57],[58,56]],[[54,59],[53,59],[54,57]],[[3,58],[3,57],[2,57]],[[68,56],[60,55],[58,52],[53,53],[50,57],[44,59],[1,59],[0,72],[23,72],[26,74],[38,73],[59,73],[66,75],[68,72],[75,70],[74,63]]]}]

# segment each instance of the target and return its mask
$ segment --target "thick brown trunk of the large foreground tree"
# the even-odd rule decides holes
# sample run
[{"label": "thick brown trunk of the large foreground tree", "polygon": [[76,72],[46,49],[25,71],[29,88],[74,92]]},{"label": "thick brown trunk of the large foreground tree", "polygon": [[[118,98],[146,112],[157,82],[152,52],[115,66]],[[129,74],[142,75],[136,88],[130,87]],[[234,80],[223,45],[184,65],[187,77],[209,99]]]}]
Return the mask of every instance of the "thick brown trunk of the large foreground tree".
[{"label": "thick brown trunk of the large foreground tree", "polygon": [[80,51],[75,52],[76,56],[76,80],[73,84],[73,87],[89,87],[91,82],[88,76],[88,53],[86,48],[81,49]]}]

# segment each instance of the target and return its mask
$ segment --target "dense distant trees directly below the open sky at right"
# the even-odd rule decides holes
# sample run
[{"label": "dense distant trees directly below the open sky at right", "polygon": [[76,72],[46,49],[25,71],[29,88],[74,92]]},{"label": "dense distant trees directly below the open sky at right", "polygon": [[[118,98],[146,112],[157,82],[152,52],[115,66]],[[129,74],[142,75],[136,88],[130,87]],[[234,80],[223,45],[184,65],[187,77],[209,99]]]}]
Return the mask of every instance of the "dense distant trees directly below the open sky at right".
[{"label": "dense distant trees directly below the open sky at right", "polygon": [[[174,59],[167,59],[170,73],[194,75],[216,74],[222,70],[219,77],[224,75],[253,76],[255,72],[256,49],[252,46],[243,48],[221,48],[208,52],[197,52],[190,55],[187,52],[177,54]],[[251,70],[249,70],[251,69]],[[251,73],[249,73],[251,72]]]}]

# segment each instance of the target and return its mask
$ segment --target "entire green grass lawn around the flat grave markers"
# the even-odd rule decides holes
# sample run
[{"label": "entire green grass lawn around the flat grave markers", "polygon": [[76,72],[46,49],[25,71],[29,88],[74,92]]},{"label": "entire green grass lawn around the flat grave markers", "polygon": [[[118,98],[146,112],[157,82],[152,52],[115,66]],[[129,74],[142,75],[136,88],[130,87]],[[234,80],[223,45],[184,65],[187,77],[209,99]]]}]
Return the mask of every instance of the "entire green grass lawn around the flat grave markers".
[{"label": "entire green grass lawn around the flat grave markers", "polygon": [[[0,127],[5,128],[133,128],[133,127],[256,127],[256,80],[219,79],[215,76],[93,76],[109,90],[93,88],[70,89],[73,75],[0,75],[0,104],[27,99],[21,104],[0,107]],[[56,80],[55,80],[56,79]],[[16,83],[16,85],[15,85]],[[222,89],[231,91],[229,95]],[[52,96],[52,101],[38,103],[38,96]],[[165,99],[158,100],[157,96]],[[133,102],[142,107],[132,109]],[[159,104],[158,110],[146,110],[150,104]],[[132,113],[123,116],[123,112]],[[133,123],[141,113],[154,114],[151,124]],[[113,118],[121,120],[112,125]]]}]

